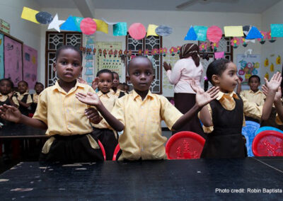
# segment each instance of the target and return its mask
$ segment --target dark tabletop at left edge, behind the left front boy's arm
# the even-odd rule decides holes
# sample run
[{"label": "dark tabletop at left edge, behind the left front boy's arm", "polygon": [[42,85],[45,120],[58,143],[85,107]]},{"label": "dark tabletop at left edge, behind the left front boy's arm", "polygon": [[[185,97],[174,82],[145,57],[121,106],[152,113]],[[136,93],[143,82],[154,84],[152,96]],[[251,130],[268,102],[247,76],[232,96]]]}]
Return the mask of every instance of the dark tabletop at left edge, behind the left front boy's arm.
[{"label": "dark tabletop at left edge, behind the left front boy's arm", "polygon": [[9,123],[0,129],[0,139],[47,137],[45,132],[46,130],[40,130],[27,125]]}]

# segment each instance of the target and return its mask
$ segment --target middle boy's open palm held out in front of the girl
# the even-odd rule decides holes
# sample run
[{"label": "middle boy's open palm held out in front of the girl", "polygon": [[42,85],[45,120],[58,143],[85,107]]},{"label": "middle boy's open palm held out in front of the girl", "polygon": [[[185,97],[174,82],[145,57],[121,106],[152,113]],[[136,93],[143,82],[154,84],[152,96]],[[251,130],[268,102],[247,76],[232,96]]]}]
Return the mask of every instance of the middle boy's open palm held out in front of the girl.
[{"label": "middle boy's open palm held out in front of the girl", "polygon": [[195,80],[191,81],[190,86],[192,87],[192,90],[197,93],[195,96],[195,101],[200,108],[217,98],[217,93],[219,93],[219,87],[215,86],[204,92],[204,90],[200,88],[200,86],[197,86],[197,84],[195,84]]}]

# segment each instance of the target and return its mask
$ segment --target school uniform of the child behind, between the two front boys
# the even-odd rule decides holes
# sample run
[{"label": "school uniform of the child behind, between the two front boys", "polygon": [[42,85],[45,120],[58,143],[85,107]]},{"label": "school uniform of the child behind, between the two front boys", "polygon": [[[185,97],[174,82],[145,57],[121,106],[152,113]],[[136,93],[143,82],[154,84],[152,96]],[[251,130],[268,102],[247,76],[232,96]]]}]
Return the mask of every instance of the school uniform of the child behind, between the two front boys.
[{"label": "school uniform of the child behind, between the two front boys", "polygon": [[[114,91],[112,89],[108,93],[102,93],[98,91],[97,95],[100,98],[100,101],[103,103],[105,108],[111,112],[112,108],[115,105],[115,101],[117,100],[117,96],[113,94]],[[100,115],[101,116],[101,115]],[[99,124],[93,124],[93,133],[103,144],[106,154],[106,160],[112,160],[115,147],[118,144],[118,135],[115,130],[108,125],[105,119],[101,120]]]}]

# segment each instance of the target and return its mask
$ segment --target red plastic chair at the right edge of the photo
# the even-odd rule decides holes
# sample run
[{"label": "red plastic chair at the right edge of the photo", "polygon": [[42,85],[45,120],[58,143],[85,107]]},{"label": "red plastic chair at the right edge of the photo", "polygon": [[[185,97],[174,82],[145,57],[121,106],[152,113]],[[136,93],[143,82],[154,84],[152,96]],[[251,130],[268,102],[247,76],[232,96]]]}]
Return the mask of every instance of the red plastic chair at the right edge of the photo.
[{"label": "red plastic chair at the right edge of the photo", "polygon": [[283,156],[283,134],[275,130],[260,132],[253,139],[255,156]]}]

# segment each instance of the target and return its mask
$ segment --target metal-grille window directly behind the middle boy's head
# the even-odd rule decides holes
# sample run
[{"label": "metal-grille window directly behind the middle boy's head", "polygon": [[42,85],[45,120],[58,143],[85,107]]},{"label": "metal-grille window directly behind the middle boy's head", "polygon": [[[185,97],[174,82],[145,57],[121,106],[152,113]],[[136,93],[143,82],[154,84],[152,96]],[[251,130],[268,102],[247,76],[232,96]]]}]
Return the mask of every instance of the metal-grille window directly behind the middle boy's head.
[{"label": "metal-grille window directly behind the middle boy's head", "polygon": [[[135,40],[132,38],[129,33],[126,36],[126,50],[132,51],[132,55],[138,55],[139,50],[149,50],[151,52],[152,49],[159,49],[162,47],[162,37],[161,36],[149,36],[146,37],[142,40]],[[153,66],[154,66],[154,74],[155,74],[155,79],[151,84],[150,91],[152,93],[162,93],[162,56],[161,55],[154,55],[147,56]],[[130,59],[128,59],[129,62]],[[127,76],[127,62],[126,62],[126,76]],[[131,84],[129,84],[131,85]]]}]

